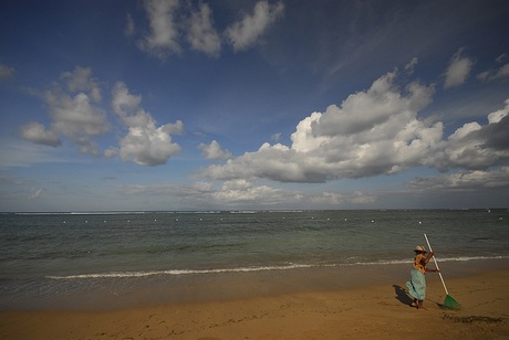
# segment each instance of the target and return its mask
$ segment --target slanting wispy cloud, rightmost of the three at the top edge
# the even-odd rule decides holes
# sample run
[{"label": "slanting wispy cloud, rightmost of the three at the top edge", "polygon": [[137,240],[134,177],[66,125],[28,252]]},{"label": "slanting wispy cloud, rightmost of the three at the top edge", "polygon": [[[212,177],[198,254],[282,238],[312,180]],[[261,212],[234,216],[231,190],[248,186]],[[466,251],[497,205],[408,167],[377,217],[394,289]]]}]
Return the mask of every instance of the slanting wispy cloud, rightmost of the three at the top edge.
[{"label": "slanting wispy cloud, rightmost of the three at the top edge", "polygon": [[282,15],[284,4],[274,6],[268,1],[259,1],[252,14],[246,14],[242,20],[231,24],[225,34],[235,51],[242,51],[254,45],[267,29]]}]

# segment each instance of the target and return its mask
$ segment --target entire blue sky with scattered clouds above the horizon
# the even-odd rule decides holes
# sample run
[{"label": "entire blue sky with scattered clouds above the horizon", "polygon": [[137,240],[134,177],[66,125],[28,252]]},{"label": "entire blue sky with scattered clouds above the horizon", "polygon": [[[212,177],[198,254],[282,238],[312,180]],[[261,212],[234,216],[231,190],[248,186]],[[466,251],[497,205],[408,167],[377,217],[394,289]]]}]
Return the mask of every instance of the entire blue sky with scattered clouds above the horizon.
[{"label": "entire blue sky with scattered clouds above the horizon", "polygon": [[505,0],[0,8],[0,211],[509,208]]}]

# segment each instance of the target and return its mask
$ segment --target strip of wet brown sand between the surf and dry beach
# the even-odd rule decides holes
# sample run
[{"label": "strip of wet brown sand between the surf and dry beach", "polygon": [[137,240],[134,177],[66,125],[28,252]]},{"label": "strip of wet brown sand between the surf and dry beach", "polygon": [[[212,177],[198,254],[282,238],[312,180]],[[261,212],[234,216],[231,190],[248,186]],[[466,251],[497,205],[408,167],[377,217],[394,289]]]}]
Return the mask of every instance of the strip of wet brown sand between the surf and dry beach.
[{"label": "strip of wet brown sand between the surf and dry beach", "polygon": [[[444,279],[482,275],[507,269],[509,261],[475,259],[439,263]],[[430,263],[429,267],[434,267]],[[133,307],[215,302],[302,293],[326,293],[371,288],[405,283],[411,263],[303,267],[283,270],[256,270],[154,276],[122,279],[64,280],[61,290],[25,298],[3,296],[0,311],[108,311]],[[439,283],[436,274],[426,275],[428,284]],[[442,284],[440,284],[442,286]],[[443,289],[443,288],[442,288]]]}]

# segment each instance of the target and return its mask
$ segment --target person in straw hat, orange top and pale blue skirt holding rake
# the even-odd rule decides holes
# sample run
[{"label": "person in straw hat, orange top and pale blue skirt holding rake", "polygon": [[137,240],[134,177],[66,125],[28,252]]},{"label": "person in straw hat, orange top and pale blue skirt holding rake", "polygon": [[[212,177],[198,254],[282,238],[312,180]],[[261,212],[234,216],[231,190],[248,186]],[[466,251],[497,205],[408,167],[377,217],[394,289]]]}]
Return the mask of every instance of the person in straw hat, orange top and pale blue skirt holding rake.
[{"label": "person in straw hat, orange top and pale blue skirt holding rake", "polygon": [[438,273],[437,269],[426,268],[429,259],[432,259],[433,251],[426,256],[426,249],[422,245],[415,247],[414,267],[411,270],[411,280],[406,283],[408,293],[414,298],[412,307],[416,307],[418,310],[425,310],[424,299],[426,298],[426,272]]}]

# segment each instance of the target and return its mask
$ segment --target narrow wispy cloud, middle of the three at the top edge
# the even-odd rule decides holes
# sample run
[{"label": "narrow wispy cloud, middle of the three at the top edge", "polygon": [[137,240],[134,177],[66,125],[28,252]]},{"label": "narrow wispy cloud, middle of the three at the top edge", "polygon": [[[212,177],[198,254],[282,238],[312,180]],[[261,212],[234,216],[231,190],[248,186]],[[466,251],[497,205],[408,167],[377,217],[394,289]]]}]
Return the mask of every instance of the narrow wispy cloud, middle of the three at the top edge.
[{"label": "narrow wispy cloud, middle of the three at the top edge", "polygon": [[212,25],[211,10],[207,3],[201,3],[199,11],[191,13],[187,40],[193,50],[210,56],[219,55],[221,39]]}]

